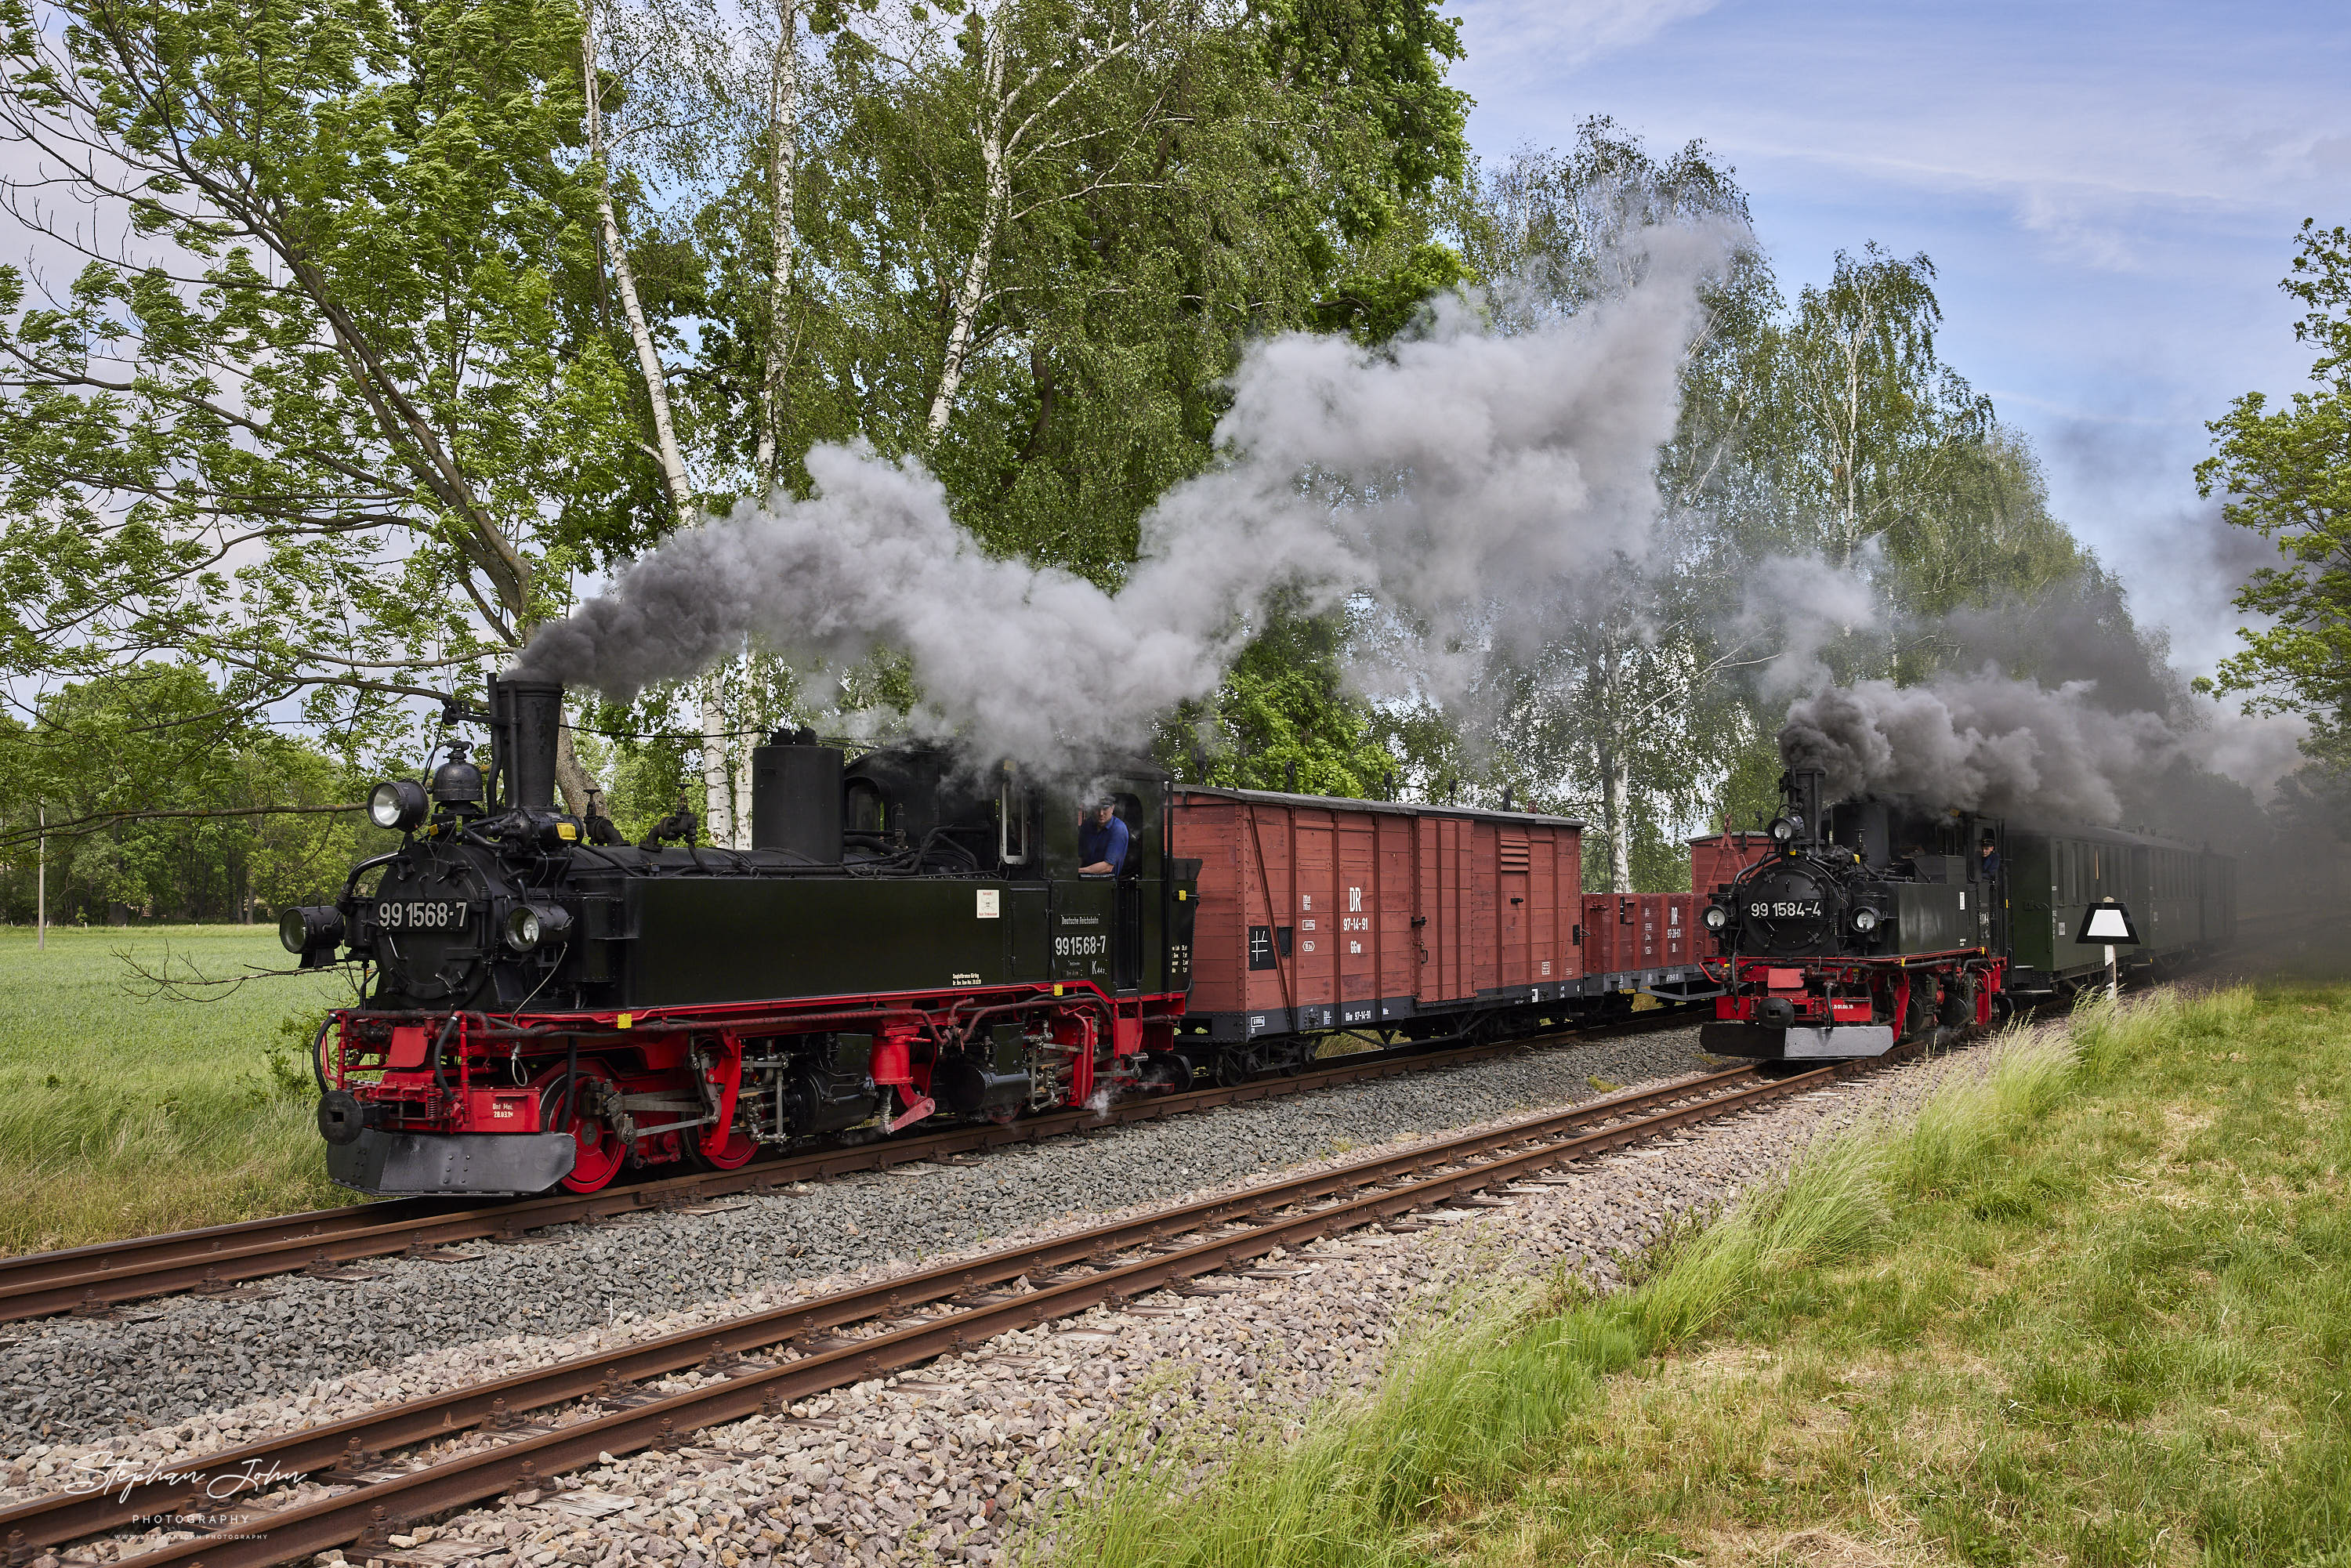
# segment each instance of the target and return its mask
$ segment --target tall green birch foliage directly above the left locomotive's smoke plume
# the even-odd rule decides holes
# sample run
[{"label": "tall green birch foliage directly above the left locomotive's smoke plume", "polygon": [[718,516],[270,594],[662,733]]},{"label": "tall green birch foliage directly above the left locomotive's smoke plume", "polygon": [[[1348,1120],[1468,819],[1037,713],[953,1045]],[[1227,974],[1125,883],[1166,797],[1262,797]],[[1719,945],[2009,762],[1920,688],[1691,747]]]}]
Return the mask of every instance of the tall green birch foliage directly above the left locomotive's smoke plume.
[{"label": "tall green birch foliage directly above the left locomotive's smoke plume", "polygon": [[[790,317],[766,169],[743,153],[679,226],[703,263],[672,270],[698,284],[656,301],[701,317],[679,397],[703,463],[743,473],[783,334],[788,458],[851,435],[922,454],[990,548],[1117,583],[1150,501],[1208,461],[1251,334],[1401,324],[1448,282],[1441,247],[1380,247],[1462,169],[1458,52],[1429,0],[999,5],[828,33],[797,75]],[[933,435],[943,303],[966,280],[969,357]],[[797,463],[783,484],[806,487]]]}]

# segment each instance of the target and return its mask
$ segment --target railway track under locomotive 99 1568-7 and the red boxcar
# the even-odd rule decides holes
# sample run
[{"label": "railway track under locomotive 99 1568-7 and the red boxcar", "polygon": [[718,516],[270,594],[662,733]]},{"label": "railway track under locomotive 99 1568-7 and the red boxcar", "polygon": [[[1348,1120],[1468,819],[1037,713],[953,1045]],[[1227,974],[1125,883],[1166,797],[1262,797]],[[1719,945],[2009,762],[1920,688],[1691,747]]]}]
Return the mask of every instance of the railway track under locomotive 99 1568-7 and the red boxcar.
[{"label": "railway track under locomotive 99 1568-7 and the red boxcar", "polygon": [[1037,1143],[1067,1133],[1157,1121],[1248,1100],[1305,1093],[1335,1084],[1359,1084],[1408,1072],[1432,1072],[1462,1063],[1507,1056],[1552,1044],[1615,1039],[1660,1027],[1681,1027],[1693,1009],[1646,1013],[1641,1023],[1596,1030],[1563,1030],[1531,1039],[1455,1046],[1427,1053],[1364,1053],[1368,1060],[1338,1058],[1291,1077],[1260,1077],[1246,1084],[1192,1088],[1173,1095],[1128,1100],[1107,1110],[1065,1110],[1027,1117],[1009,1126],[957,1126],[938,1133],[889,1138],[853,1147],[820,1150],[764,1159],[741,1171],[694,1171],[665,1175],[595,1194],[543,1194],[498,1199],[491,1204],[451,1204],[449,1199],[388,1199],[317,1208],[270,1220],[245,1220],[207,1229],[183,1229],[162,1237],[103,1241],[54,1253],[0,1258],[0,1324],[56,1316],[63,1312],[96,1316],[125,1302],[181,1291],[223,1293],[273,1274],[313,1272],[334,1276],[371,1258],[442,1258],[465,1241],[520,1239],[548,1225],[602,1220],[654,1208],[691,1208],[738,1192],[766,1192],[778,1185],[879,1171],[922,1159],[976,1154],[1018,1143]]}]

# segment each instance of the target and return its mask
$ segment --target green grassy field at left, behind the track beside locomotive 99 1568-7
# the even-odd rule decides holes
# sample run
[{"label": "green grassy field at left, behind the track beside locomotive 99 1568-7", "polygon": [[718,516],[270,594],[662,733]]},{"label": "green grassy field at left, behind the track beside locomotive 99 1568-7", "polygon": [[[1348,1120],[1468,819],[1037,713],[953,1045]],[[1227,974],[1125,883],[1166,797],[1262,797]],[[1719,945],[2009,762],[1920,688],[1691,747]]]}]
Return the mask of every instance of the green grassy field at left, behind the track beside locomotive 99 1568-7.
[{"label": "green grassy field at left, behind the track beside locomotive 99 1568-7", "polygon": [[275,926],[0,929],[0,1251],[221,1225],[350,1201],[327,1182],[303,1046],[339,976],[219,1001],[139,997],[150,971],[284,969]]}]

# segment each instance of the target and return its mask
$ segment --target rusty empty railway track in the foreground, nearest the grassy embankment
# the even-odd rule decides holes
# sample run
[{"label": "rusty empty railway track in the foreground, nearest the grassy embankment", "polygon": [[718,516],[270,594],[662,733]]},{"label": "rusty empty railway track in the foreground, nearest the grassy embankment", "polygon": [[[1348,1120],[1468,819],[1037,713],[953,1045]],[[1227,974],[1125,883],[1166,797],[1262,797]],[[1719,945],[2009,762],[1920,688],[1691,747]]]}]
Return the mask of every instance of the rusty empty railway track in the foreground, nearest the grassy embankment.
[{"label": "rusty empty railway track in the foreground, nearest the grassy embankment", "polygon": [[[92,1476],[89,1490],[0,1509],[7,1561],[190,1509],[202,1509],[205,1533],[118,1561],[233,1568],[331,1547],[369,1556],[404,1523],[536,1490],[604,1455],[677,1446],[701,1427],[748,1415],[781,1415],[795,1401],[971,1349],[997,1333],[1183,1288],[1333,1232],[1474,1201],[1488,1187],[1909,1056],[1916,1046],[1878,1063],[1777,1079],[1735,1067],[383,1406],[190,1460],[169,1474],[108,1476],[103,1490]],[[647,1387],[694,1373],[696,1387]],[[397,1448],[414,1453],[383,1458]]]}]

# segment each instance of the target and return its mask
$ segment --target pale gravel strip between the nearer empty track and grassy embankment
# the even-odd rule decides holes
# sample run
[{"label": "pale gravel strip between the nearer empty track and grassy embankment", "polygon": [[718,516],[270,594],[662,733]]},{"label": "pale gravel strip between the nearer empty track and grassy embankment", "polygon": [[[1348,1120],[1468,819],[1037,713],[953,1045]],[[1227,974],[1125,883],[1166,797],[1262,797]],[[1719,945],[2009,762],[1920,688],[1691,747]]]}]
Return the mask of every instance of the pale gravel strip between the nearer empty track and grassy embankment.
[{"label": "pale gravel strip between the nearer empty track and grassy embankment", "polygon": [[1676,1215],[1721,1204],[1822,1126],[1909,1100],[1942,1070],[1838,1084],[1578,1161],[1509,1187],[1505,1206],[1432,1211],[1427,1229],[1349,1232],[1194,1291],[999,1335],[698,1434],[682,1453],[630,1455],[421,1526],[395,1549],[496,1568],[1002,1563],[1098,1483],[1107,1455],[1178,1427],[1213,1439],[1295,1420],[1366,1387],[1401,1326],[1465,1293],[1554,1265],[1610,1288],[1620,1260]]}]

